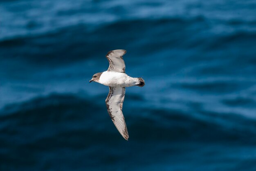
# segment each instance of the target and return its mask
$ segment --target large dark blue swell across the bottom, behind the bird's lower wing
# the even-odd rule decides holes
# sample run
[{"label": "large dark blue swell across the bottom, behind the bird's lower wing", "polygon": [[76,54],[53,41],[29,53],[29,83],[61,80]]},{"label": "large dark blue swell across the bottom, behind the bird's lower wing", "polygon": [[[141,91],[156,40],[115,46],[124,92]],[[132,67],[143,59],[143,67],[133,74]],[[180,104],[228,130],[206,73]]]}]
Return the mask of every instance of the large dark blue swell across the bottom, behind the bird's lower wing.
[{"label": "large dark blue swell across the bottom, behind the bird's lower wing", "polygon": [[[54,94],[10,105],[0,115],[1,169],[72,170],[75,166],[81,170],[113,170],[113,162],[122,168],[124,160],[135,162],[144,157],[148,164],[170,164],[184,156],[192,160],[195,154],[202,160],[207,156],[207,161],[216,161],[220,156],[225,160],[230,155],[240,156],[235,152],[238,149],[254,153],[256,121],[232,113],[221,116],[204,111],[195,115],[193,110],[184,113],[124,106],[130,135],[126,142],[108,116],[104,101],[98,102],[98,98]],[[136,97],[126,100],[143,102]],[[11,111],[13,108],[16,110]],[[244,162],[254,167],[253,161]],[[98,163],[100,166],[95,167]],[[203,166],[208,168],[209,164]]]}]

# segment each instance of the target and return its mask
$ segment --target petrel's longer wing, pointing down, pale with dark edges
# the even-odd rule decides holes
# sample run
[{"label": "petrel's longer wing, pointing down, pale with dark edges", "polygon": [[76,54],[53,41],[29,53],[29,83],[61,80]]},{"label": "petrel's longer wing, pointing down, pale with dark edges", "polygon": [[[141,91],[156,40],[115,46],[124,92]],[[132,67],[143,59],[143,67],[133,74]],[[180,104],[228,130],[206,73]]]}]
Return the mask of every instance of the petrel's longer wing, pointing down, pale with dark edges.
[{"label": "petrel's longer wing, pointing down, pale with dark edges", "polygon": [[128,140],[129,135],[122,112],[124,95],[125,87],[109,87],[108,97],[106,98],[106,106],[108,109],[108,114],[117,127],[117,130],[126,140]]}]

